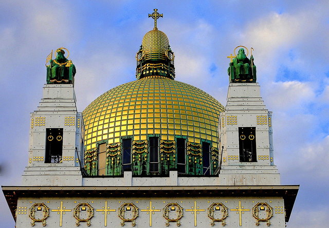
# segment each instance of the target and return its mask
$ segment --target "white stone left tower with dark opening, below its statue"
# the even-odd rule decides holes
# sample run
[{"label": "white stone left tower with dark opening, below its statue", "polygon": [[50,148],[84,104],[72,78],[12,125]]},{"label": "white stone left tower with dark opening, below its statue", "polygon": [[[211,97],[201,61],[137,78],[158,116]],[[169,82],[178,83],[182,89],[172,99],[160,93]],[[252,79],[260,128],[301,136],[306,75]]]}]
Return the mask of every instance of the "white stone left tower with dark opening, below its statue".
[{"label": "white stone left tower with dark opening, below its statue", "polygon": [[73,84],[45,84],[38,109],[31,113],[23,185],[81,185],[83,131]]}]

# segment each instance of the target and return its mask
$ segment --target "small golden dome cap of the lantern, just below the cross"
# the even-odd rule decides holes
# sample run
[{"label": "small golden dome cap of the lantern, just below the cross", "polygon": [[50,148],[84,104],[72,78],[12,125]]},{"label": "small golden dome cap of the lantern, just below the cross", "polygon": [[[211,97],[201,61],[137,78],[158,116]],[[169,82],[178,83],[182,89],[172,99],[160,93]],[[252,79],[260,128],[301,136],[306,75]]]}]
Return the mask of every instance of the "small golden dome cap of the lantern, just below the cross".
[{"label": "small golden dome cap of the lantern, just below the cross", "polygon": [[147,32],[142,40],[142,48],[144,53],[165,53],[169,47],[167,35],[154,28]]}]

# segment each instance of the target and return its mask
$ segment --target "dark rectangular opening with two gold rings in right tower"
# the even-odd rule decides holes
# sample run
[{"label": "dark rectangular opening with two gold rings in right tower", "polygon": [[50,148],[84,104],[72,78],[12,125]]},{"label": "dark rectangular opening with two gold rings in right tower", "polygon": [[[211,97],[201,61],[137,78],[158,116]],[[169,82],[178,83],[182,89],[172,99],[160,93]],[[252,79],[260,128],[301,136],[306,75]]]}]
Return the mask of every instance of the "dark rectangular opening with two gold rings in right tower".
[{"label": "dark rectangular opening with two gold rings in right tower", "polygon": [[257,162],[255,133],[255,127],[239,127],[240,162]]}]

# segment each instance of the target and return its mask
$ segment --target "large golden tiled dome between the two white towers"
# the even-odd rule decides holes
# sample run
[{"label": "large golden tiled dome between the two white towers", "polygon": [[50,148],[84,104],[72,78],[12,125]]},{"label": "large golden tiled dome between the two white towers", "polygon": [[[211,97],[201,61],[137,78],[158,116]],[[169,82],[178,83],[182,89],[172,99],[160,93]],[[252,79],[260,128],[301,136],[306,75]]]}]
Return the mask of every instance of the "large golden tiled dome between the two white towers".
[{"label": "large golden tiled dome between the two white towers", "polygon": [[86,149],[96,148],[100,141],[147,140],[152,135],[161,140],[182,136],[188,142],[208,141],[217,147],[221,111],[222,104],[194,86],[145,77],[108,90],[85,108]]}]

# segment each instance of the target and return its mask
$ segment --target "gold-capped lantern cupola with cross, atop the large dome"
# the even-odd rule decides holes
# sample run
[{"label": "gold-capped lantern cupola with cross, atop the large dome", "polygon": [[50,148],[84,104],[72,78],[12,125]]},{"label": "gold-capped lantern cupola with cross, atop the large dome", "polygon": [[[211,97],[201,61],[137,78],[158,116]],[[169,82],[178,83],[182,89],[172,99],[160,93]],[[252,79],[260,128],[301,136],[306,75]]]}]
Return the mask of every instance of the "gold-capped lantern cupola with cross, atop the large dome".
[{"label": "gold-capped lantern cupola with cross, atop the large dome", "polygon": [[174,53],[170,49],[167,35],[158,30],[157,20],[163,17],[154,9],[149,17],[154,19],[153,30],[147,32],[142,40],[142,45],[136,54],[136,78],[148,76],[163,76],[175,78]]}]

